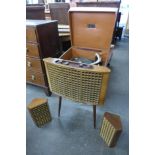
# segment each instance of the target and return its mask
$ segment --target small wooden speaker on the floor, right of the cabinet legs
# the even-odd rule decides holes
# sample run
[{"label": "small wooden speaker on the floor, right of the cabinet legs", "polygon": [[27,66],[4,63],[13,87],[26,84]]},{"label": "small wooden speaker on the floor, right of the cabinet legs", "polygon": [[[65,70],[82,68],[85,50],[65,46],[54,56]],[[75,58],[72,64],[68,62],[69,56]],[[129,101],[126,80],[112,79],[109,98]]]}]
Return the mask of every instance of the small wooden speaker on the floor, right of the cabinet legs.
[{"label": "small wooden speaker on the floor, right of the cabinet legs", "polygon": [[105,112],[103,116],[100,136],[109,147],[114,147],[122,132],[120,116]]}]

